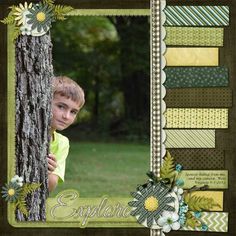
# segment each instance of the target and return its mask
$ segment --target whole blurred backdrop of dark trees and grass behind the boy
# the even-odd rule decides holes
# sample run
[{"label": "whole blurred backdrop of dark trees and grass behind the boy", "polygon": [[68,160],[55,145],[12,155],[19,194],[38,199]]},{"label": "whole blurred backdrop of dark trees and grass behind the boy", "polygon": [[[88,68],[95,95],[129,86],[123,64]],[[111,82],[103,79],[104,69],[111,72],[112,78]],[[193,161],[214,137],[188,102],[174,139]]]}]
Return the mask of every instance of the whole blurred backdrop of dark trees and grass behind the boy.
[{"label": "whole blurred backdrop of dark trees and grass behind the boy", "polygon": [[130,197],[150,159],[150,32],[144,16],[68,17],[51,30],[55,75],[84,89],[65,184],[82,197]]}]

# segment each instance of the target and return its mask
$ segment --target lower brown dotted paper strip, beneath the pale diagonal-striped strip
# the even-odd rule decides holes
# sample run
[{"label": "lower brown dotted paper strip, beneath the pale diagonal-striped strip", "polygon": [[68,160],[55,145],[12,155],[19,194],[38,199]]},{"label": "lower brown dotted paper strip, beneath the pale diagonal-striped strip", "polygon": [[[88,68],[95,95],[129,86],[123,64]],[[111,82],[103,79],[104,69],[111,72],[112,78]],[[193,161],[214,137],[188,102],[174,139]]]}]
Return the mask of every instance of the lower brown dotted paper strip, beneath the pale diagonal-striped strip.
[{"label": "lower brown dotted paper strip, beneath the pale diagonal-striped strip", "polygon": [[217,149],[168,149],[176,163],[186,170],[220,170],[225,168],[223,150]]}]

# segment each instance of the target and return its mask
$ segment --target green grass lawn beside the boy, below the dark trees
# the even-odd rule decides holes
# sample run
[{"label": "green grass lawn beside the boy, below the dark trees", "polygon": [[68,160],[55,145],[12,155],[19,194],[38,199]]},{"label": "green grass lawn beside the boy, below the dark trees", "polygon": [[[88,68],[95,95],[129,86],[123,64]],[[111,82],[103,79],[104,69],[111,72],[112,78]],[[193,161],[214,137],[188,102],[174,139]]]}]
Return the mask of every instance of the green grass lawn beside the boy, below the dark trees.
[{"label": "green grass lawn beside the boy, below the dark trees", "polygon": [[65,182],[50,196],[73,188],[81,197],[130,197],[148,177],[149,145],[70,142]]}]

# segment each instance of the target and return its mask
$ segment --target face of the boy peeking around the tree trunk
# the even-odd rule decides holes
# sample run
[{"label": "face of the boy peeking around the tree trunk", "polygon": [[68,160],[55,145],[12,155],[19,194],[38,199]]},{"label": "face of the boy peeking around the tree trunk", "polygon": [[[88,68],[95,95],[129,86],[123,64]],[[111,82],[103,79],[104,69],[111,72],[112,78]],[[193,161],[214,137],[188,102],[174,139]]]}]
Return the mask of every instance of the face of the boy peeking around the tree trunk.
[{"label": "face of the boy peeking around the tree trunk", "polygon": [[75,120],[79,112],[79,104],[70,98],[55,94],[52,101],[52,123],[53,130],[64,130]]}]

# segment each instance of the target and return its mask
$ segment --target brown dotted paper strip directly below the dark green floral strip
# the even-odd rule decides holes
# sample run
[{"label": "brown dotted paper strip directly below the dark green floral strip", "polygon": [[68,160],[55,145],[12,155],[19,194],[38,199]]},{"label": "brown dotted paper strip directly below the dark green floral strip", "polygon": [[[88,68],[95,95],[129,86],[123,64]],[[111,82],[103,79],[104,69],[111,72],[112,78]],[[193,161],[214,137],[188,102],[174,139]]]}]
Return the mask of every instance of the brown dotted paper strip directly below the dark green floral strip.
[{"label": "brown dotted paper strip directly below the dark green floral strip", "polygon": [[164,98],[167,107],[232,107],[229,88],[167,89]]}]

